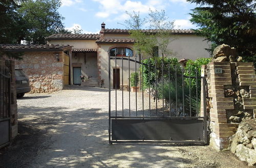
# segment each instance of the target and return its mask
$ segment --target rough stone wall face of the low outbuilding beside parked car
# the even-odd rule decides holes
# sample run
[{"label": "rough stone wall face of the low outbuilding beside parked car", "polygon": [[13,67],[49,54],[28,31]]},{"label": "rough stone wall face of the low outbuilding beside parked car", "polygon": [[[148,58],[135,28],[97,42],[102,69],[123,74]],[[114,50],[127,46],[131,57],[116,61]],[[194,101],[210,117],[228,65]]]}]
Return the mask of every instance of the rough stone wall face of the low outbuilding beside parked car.
[{"label": "rough stone wall face of the low outbuilding beside parked car", "polygon": [[15,68],[23,69],[29,76],[31,93],[62,90],[64,54],[62,51],[30,51],[24,53],[23,60],[16,60]]}]

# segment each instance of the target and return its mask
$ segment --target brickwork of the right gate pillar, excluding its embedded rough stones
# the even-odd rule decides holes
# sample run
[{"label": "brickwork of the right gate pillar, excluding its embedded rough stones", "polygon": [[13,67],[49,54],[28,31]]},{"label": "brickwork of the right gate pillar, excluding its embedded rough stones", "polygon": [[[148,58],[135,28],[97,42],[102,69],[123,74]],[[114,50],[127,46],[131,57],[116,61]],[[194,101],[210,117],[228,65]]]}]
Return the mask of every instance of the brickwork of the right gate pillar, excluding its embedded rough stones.
[{"label": "brickwork of the right gate pillar, excluding its embedded rough stones", "polygon": [[[236,73],[231,76],[230,64],[236,65]],[[222,70],[222,72],[221,72]],[[256,111],[256,77],[253,63],[212,62],[209,64],[208,97],[210,105],[210,145],[218,150],[229,146],[229,137],[233,135],[238,124],[228,123],[226,110],[234,109],[234,98],[225,97],[225,87],[248,87],[250,97],[243,97],[243,109]],[[234,79],[232,79],[234,77]],[[232,83],[232,81],[234,83]],[[236,110],[236,109],[234,109]],[[237,109],[238,110],[238,109]],[[254,115],[255,117],[255,115]]]}]

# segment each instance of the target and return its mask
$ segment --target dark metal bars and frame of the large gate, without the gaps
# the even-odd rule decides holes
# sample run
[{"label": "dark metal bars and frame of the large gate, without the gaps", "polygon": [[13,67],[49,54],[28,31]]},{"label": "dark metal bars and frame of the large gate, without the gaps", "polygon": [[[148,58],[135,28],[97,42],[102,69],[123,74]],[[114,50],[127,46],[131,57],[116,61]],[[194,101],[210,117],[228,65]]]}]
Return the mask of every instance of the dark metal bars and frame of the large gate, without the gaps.
[{"label": "dark metal bars and frame of the large gate, without the gaps", "polygon": [[[109,143],[127,143],[127,142],[134,142],[134,143],[141,143],[141,142],[168,142],[168,143],[207,143],[207,116],[206,116],[206,110],[204,110],[204,117],[199,117],[199,111],[198,111],[198,78],[203,80],[203,97],[201,97],[201,101],[204,103],[204,109],[206,109],[205,106],[205,77],[198,77],[198,73],[196,71],[196,76],[191,76],[189,73],[188,76],[184,75],[184,69],[181,70],[181,88],[182,88],[182,111],[179,114],[178,111],[178,82],[177,82],[177,76],[178,76],[178,67],[172,67],[175,72],[175,110],[176,115],[171,116],[171,109],[169,107],[169,115],[165,116],[165,110],[164,110],[164,99],[162,100],[162,111],[158,111],[158,72],[157,72],[157,62],[155,62],[153,73],[155,73],[155,83],[152,86],[152,83],[150,80],[148,80],[148,88],[149,88],[149,99],[148,99],[148,114],[145,116],[144,112],[144,93],[143,93],[143,87],[144,87],[144,81],[143,77],[141,78],[141,89],[142,89],[142,114],[141,116],[138,115],[138,107],[137,107],[137,88],[135,90],[135,114],[131,114],[131,91],[130,91],[130,63],[135,63],[135,72],[137,72],[137,64],[143,65],[142,68],[142,76],[143,76],[143,68],[145,66],[146,69],[148,69],[148,74],[150,74],[151,71],[151,65],[150,61],[148,61],[148,64],[144,64],[140,62],[141,60],[137,61],[137,57],[135,59],[131,59],[130,55],[128,55],[128,58],[123,57],[123,51],[121,52],[121,58],[117,58],[117,51],[115,51],[115,56],[111,57],[110,51],[109,53]],[[117,70],[117,60],[121,61],[121,68],[122,68],[122,110],[121,110],[121,116],[118,115],[119,111],[117,110],[117,83],[113,83],[113,86],[115,86],[115,115],[111,115],[111,60],[114,60],[115,62],[115,71]],[[123,97],[123,74],[124,74],[124,66],[123,61],[128,61],[128,71],[129,71],[129,115],[124,116],[124,97]],[[169,81],[169,100],[170,100],[170,68],[169,65],[167,68],[167,74],[168,74],[168,81]],[[164,93],[164,62],[162,61],[160,72],[162,72],[162,95]],[[117,74],[117,73],[116,73]],[[115,82],[117,82],[117,75],[115,75]],[[184,78],[186,78],[186,81],[188,79],[188,85],[189,85],[189,96],[187,100],[187,103],[189,105],[189,108],[186,109],[188,113],[185,113],[185,95],[184,95]],[[192,114],[191,109],[191,79],[196,80],[196,112],[195,116]],[[137,78],[135,79],[137,80]],[[173,79],[172,79],[173,80]],[[120,80],[119,80],[120,81]],[[152,88],[151,88],[152,86]],[[152,90],[155,89],[155,101],[156,101],[156,116],[152,115],[152,108],[151,108],[151,94]],[[160,88],[159,88],[160,89]],[[126,111],[125,111],[126,112]],[[141,111],[140,111],[141,112]],[[189,116],[186,116],[185,114],[188,114]],[[160,115],[160,116],[159,116]],[[177,129],[172,129],[172,127],[177,123],[179,127],[176,127]],[[194,126],[189,125],[189,123],[193,123]],[[196,125],[196,126],[195,126]],[[154,128],[153,128],[153,127]],[[164,127],[166,126],[166,127]],[[134,129],[136,128],[136,129]],[[158,129],[156,129],[158,128]],[[183,134],[180,134],[177,130],[182,129],[186,136]],[[157,130],[157,131],[156,131]],[[176,131],[175,131],[176,130]],[[161,136],[155,136],[159,134],[159,131],[161,132]],[[129,133],[130,132],[130,133]],[[150,134],[150,136],[147,136]],[[166,135],[168,134],[168,136]],[[172,136],[170,136],[172,134]],[[166,135],[166,136],[165,136]],[[188,136],[189,135],[189,136]],[[164,137],[164,138],[163,138]],[[168,138],[166,138],[168,137]],[[181,137],[187,137],[187,138],[181,138]],[[152,141],[154,140],[154,141]],[[167,140],[167,141],[166,141]]]}]

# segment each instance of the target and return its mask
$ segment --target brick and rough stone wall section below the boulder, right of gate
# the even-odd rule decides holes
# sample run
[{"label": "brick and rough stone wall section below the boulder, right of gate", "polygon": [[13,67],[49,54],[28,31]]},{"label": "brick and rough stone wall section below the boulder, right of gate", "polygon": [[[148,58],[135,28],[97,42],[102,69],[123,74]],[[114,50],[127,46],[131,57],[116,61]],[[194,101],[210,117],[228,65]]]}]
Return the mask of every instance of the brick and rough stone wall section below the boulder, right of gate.
[{"label": "brick and rough stone wall section below the boulder, right of gate", "polygon": [[[222,72],[218,73],[218,70]],[[210,144],[227,149],[239,123],[255,117],[256,77],[253,63],[211,62],[207,65]]]}]

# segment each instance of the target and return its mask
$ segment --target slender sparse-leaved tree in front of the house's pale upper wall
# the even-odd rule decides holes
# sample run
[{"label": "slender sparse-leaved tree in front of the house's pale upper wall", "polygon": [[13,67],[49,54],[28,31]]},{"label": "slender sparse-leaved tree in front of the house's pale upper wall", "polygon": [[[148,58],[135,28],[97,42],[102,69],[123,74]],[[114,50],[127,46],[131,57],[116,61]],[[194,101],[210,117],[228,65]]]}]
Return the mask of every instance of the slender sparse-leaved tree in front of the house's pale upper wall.
[{"label": "slender sparse-leaved tree in front of the house's pale upper wall", "polygon": [[[174,54],[167,48],[168,44],[172,41],[170,37],[174,22],[168,21],[164,10],[150,10],[146,18],[141,18],[139,12],[126,13],[130,16],[130,19],[125,20],[125,23],[128,25],[127,28],[131,29],[131,37],[136,40],[134,48],[137,51],[153,58],[158,55],[156,48],[159,49],[162,57]],[[146,26],[154,30],[153,33],[143,31],[142,27]]]}]

